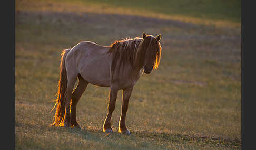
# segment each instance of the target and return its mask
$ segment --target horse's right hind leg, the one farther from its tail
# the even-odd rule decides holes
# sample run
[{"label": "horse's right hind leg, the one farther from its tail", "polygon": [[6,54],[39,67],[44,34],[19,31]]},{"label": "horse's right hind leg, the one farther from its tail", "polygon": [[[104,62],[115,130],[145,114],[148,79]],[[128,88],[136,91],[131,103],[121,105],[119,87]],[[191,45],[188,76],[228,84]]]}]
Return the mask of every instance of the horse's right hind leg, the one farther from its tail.
[{"label": "horse's right hind leg, the one farther from its tail", "polygon": [[75,90],[72,93],[71,97],[71,127],[80,128],[80,125],[76,121],[76,105],[78,101],[80,100],[82,94],[84,93],[86,87],[88,85],[88,82],[85,81],[80,75],[78,75],[78,85],[75,88]]}]

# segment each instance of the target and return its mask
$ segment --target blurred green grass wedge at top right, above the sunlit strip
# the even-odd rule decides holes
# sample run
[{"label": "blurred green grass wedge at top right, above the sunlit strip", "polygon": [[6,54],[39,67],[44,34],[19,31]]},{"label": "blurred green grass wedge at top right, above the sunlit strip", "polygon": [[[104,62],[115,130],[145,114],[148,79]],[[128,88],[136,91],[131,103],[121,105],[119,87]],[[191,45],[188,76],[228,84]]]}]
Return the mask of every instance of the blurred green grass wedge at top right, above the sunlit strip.
[{"label": "blurred green grass wedge at top right, above the sunlit strip", "polygon": [[[84,2],[78,0],[76,2]],[[241,22],[241,1],[240,0],[182,0],[182,1],[118,1],[118,0],[96,0],[86,1],[86,3],[98,3],[112,5],[115,7],[124,7],[127,9],[142,9],[155,13],[163,13],[166,15],[184,15],[189,17],[197,17],[214,20],[229,20],[233,22]]]}]

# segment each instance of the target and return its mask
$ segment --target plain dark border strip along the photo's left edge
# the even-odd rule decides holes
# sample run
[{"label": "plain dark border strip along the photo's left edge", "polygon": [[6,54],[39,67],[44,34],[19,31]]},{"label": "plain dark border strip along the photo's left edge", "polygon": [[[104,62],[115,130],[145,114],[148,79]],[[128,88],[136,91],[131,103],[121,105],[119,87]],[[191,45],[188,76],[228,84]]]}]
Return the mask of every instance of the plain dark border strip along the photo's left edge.
[{"label": "plain dark border strip along the photo's left edge", "polygon": [[1,6],[1,147],[15,149],[15,1]]}]

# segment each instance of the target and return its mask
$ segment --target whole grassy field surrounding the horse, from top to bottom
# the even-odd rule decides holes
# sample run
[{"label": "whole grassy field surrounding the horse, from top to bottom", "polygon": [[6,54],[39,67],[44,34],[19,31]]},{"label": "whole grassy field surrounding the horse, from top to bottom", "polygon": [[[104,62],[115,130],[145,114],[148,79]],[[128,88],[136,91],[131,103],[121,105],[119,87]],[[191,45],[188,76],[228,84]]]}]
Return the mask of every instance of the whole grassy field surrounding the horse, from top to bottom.
[{"label": "whole grassy field surrounding the horse, from top to bottom", "polygon": [[[241,149],[240,1],[15,2],[15,149]],[[117,133],[121,91],[114,133],[102,132],[109,88],[90,84],[77,105],[83,130],[49,126],[61,51],[143,31],[162,34],[163,51],[131,95],[132,135]]]}]

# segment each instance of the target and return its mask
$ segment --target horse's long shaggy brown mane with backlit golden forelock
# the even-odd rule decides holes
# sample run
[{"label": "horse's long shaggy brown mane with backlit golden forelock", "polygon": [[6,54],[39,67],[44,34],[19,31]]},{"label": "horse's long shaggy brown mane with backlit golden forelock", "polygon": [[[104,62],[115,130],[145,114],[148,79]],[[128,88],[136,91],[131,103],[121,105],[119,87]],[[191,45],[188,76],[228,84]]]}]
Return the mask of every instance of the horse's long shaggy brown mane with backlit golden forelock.
[{"label": "horse's long shaggy brown mane with backlit golden forelock", "polygon": [[139,63],[140,61],[144,60],[146,50],[148,48],[157,49],[156,56],[154,56],[155,62],[153,66],[154,69],[157,69],[161,57],[161,45],[158,41],[153,41],[152,38],[150,40],[145,40],[140,37],[135,37],[116,40],[112,42],[108,51],[108,53],[113,54],[113,60],[111,65],[112,76],[114,74],[114,70],[117,67],[116,65],[119,65],[117,67],[117,70],[120,69],[121,64],[124,65],[127,62],[129,62],[135,70],[139,68]]}]

